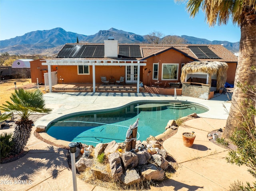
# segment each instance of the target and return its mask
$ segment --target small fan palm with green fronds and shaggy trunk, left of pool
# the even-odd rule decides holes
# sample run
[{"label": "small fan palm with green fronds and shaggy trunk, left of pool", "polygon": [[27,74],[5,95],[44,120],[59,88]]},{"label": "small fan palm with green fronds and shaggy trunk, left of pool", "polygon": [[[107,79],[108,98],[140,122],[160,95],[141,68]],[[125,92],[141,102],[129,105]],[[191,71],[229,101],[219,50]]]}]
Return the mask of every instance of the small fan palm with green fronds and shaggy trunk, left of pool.
[{"label": "small fan palm with green fronds and shaggy trunk, left of pool", "polygon": [[6,101],[6,104],[0,108],[6,112],[15,112],[20,116],[20,120],[15,122],[14,129],[14,153],[20,153],[26,146],[32,131],[33,121],[29,116],[33,112],[49,113],[52,109],[45,108],[43,93],[40,89],[24,90],[18,88],[11,94],[12,102]]}]

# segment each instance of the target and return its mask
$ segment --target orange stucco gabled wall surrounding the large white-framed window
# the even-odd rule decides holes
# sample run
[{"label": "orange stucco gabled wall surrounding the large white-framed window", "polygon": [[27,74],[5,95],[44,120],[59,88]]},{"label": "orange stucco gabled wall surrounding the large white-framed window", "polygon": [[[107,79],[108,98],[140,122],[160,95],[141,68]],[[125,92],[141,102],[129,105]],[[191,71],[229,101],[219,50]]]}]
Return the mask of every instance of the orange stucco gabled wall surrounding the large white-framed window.
[{"label": "orange stucco gabled wall surrounding the large white-framed window", "polygon": [[[146,63],[147,65],[143,67],[142,72],[142,80],[144,85],[150,86],[150,81],[152,83],[156,82],[157,80],[153,80],[153,63],[159,63],[158,65],[158,80],[161,81],[163,84],[169,83],[169,82],[180,82],[180,68],[181,68],[181,64],[182,63],[188,63],[190,61],[193,61],[192,59],[186,57],[185,55],[183,55],[182,53],[174,50],[174,49],[170,49],[168,51],[165,51],[161,54],[152,56],[150,58],[146,59]],[[178,80],[166,80],[163,81],[161,80],[162,77],[162,63],[178,63],[179,64],[179,69],[178,69]],[[146,70],[145,70],[146,69]],[[148,73],[148,71],[151,71],[150,73]],[[167,85],[166,85],[167,86]]]}]

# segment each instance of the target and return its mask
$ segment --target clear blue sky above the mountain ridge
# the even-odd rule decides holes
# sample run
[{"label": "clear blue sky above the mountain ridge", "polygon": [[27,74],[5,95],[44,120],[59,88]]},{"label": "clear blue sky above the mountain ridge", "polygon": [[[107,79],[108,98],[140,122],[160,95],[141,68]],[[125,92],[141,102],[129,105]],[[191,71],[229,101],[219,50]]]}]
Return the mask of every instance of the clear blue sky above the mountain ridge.
[{"label": "clear blue sky above the mountain ridge", "polygon": [[185,4],[173,0],[0,0],[0,40],[57,27],[83,35],[113,27],[138,35],[240,41],[240,27],[232,22],[210,28],[203,12],[190,18]]}]

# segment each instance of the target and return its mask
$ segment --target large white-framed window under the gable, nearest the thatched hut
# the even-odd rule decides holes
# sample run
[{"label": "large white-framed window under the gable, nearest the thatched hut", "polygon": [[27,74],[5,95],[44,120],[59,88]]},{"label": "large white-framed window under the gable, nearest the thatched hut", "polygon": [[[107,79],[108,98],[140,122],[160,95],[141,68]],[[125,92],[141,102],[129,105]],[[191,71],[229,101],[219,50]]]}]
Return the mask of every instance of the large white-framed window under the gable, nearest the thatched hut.
[{"label": "large white-framed window under the gable, nearest the thatched hut", "polygon": [[163,64],[162,80],[178,80],[179,64]]}]

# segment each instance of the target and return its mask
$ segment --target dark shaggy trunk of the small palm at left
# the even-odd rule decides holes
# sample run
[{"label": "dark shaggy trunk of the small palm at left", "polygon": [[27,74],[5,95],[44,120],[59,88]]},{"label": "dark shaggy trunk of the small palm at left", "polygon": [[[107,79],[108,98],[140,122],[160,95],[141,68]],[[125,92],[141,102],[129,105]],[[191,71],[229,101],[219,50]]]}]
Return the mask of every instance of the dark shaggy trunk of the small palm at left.
[{"label": "dark shaggy trunk of the small palm at left", "polygon": [[32,120],[27,118],[15,122],[16,127],[13,133],[14,153],[19,154],[26,146],[32,131]]}]

